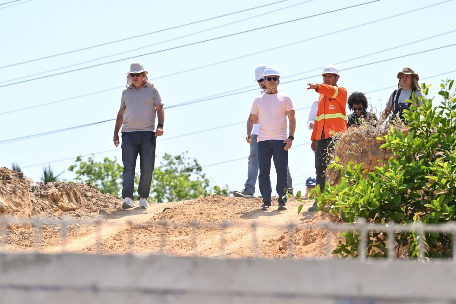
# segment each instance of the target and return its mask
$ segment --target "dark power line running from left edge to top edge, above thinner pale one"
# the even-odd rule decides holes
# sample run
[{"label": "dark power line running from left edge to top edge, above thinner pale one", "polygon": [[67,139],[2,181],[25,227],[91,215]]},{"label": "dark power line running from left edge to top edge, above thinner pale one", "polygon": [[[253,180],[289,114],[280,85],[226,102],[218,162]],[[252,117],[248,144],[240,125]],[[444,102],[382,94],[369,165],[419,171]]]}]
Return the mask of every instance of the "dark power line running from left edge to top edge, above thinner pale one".
[{"label": "dark power line running from left edge to top edge, above thinner pale one", "polygon": [[[15,1],[11,1],[11,2],[16,2],[16,1],[20,1],[20,0],[15,0]],[[31,62],[38,61],[38,60],[41,60],[41,59],[57,57],[57,56],[66,55],[66,54],[70,54],[70,53],[74,53],[74,52],[88,50],[88,49],[91,49],[91,48],[94,48],[94,47],[101,47],[101,46],[112,44],[112,43],[116,43],[116,42],[122,42],[122,41],[130,40],[130,39],[133,39],[133,38],[144,37],[144,36],[147,36],[147,35],[160,33],[162,31],[169,31],[169,30],[173,30],[173,29],[176,29],[176,28],[179,28],[179,27],[189,26],[189,25],[197,24],[197,23],[204,22],[204,21],[218,19],[218,18],[221,18],[221,17],[226,17],[226,16],[242,13],[242,12],[249,11],[249,10],[255,10],[255,9],[258,9],[258,8],[261,8],[261,7],[274,5],[274,4],[278,4],[278,3],[281,3],[281,2],[285,2],[285,1],[289,1],[289,0],[276,1],[276,2],[269,3],[269,4],[265,4],[265,5],[255,6],[255,7],[246,9],[246,10],[238,10],[238,11],[235,11],[233,13],[229,13],[229,14],[225,14],[225,15],[215,16],[215,17],[211,17],[211,18],[207,18],[207,19],[203,19],[203,20],[199,20],[199,21],[193,21],[193,22],[190,22],[190,23],[181,24],[179,26],[169,27],[169,28],[162,29],[162,30],[159,30],[159,31],[152,31],[150,33],[145,33],[145,34],[141,34],[141,35],[137,35],[137,36],[133,36],[133,37],[127,37],[127,38],[123,38],[123,39],[119,39],[119,40],[115,40],[115,41],[111,41],[111,42],[105,42],[105,43],[97,44],[97,45],[94,45],[94,46],[91,46],[91,47],[83,47],[83,48],[80,48],[80,49],[77,49],[77,50],[73,50],[73,51],[63,52],[63,53],[54,54],[54,55],[41,57],[41,58],[36,58],[36,59],[31,59],[31,60],[23,61],[23,62],[20,62],[20,63],[13,63],[13,64],[10,64],[10,65],[5,65],[5,66],[0,67],[0,68],[8,68],[8,67],[12,67],[12,66],[15,66],[15,65],[23,64],[23,63],[31,63]],[[8,2],[8,3],[11,3],[11,2]],[[4,3],[4,4],[6,4],[6,3]]]}]

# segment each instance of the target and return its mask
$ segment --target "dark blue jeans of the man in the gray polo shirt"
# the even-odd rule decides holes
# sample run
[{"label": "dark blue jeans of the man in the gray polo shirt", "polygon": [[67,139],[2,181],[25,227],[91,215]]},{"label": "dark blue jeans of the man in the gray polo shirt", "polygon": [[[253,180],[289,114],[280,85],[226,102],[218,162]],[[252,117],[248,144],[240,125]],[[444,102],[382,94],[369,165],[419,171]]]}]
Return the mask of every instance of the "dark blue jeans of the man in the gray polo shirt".
[{"label": "dark blue jeans of the man in the gray polo shirt", "polygon": [[134,199],[133,191],[138,153],[141,169],[138,194],[140,197],[149,197],[152,172],[155,167],[155,138],[155,132],[152,131],[122,133],[122,162],[124,163],[122,198]]}]

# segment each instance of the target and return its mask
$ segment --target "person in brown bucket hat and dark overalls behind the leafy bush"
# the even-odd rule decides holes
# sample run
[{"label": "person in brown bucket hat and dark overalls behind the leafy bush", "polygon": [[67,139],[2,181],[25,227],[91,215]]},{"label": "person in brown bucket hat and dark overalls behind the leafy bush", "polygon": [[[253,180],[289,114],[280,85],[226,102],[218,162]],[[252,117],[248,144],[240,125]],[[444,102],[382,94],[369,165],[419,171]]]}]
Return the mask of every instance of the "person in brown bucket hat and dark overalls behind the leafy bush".
[{"label": "person in brown bucket hat and dark overalls behind the leafy bush", "polygon": [[[415,92],[415,96],[417,98],[425,96],[421,91],[420,84],[418,83],[420,77],[412,68],[403,68],[402,72],[398,73],[397,78],[399,79],[398,89],[395,89],[389,96],[385,111],[383,112],[383,118],[388,117],[389,113],[393,111],[393,117],[399,115],[400,119],[404,120],[402,111],[404,109],[409,109],[410,105],[412,105],[412,102],[406,101],[412,99],[412,93]],[[421,101],[419,101],[417,106],[419,105],[421,105]]]}]

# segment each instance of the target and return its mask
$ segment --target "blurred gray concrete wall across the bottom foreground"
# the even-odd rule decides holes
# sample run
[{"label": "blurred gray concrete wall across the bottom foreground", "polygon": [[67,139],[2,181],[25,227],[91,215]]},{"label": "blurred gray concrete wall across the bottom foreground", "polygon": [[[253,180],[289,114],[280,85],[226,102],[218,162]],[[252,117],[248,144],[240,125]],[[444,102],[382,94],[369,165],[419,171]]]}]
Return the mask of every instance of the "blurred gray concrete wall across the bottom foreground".
[{"label": "blurred gray concrete wall across the bottom foreground", "polygon": [[0,254],[0,304],[454,303],[456,263]]}]

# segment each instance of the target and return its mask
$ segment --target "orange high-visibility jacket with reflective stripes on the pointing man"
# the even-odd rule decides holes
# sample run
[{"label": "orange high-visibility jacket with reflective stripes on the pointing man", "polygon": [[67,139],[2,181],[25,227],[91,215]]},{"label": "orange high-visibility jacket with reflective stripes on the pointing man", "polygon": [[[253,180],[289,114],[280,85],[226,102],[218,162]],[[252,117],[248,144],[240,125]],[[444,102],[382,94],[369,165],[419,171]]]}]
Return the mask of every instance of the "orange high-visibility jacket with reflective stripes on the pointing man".
[{"label": "orange high-visibility jacket with reflective stripes on the pointing man", "polygon": [[346,132],[347,90],[343,87],[339,88],[337,84],[335,86],[318,84],[318,89],[315,91],[320,93],[320,99],[318,100],[318,110],[311,140],[320,140],[323,129],[325,130],[325,138],[331,137],[332,132]]}]

